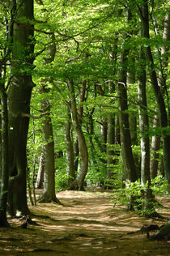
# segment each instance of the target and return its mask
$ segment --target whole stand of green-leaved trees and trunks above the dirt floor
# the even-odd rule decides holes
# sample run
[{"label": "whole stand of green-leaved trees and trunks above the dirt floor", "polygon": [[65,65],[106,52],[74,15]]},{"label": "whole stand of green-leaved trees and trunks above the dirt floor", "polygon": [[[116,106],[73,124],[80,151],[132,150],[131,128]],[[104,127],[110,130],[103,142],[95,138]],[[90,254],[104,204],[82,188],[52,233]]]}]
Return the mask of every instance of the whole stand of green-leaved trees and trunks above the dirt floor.
[{"label": "whole stand of green-leaved trees and trunks above the dirt floor", "polygon": [[170,2],[0,0],[0,14],[0,227],[94,188],[164,218]]}]

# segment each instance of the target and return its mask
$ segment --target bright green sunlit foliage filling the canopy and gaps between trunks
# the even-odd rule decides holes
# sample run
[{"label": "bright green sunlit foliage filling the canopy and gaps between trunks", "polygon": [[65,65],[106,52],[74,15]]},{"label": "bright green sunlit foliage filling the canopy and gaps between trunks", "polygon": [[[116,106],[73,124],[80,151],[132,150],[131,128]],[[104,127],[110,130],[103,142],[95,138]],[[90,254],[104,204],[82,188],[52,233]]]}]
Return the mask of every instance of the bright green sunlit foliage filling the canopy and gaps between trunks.
[{"label": "bright green sunlit foliage filling the canopy and gaps between trunks", "polygon": [[[169,66],[164,70],[162,68],[162,60],[168,56],[168,53],[160,55],[160,48],[168,46],[168,42],[163,40],[163,20],[165,14],[169,10],[169,2],[156,0],[149,2],[150,4],[150,35],[151,38],[142,38],[139,36],[141,27],[138,13],[138,5],[143,4],[142,0],[136,1],[113,1],[113,0],[44,0],[44,5],[38,5],[35,1],[35,61],[34,69],[19,63],[19,72],[32,74],[33,81],[36,85],[32,92],[31,117],[28,133],[28,168],[30,177],[33,182],[36,180],[36,173],[39,167],[39,159],[44,145],[42,134],[42,120],[40,116],[40,101],[49,99],[51,104],[51,117],[53,123],[53,137],[55,145],[55,166],[56,166],[56,190],[66,188],[67,162],[66,162],[66,143],[65,143],[65,122],[66,122],[66,105],[71,98],[67,88],[67,79],[74,80],[74,90],[76,96],[77,108],[83,106],[82,130],[87,142],[89,151],[89,169],[86,177],[87,186],[108,186],[107,180],[107,153],[104,150],[108,144],[104,144],[101,139],[101,125],[104,118],[109,113],[113,113],[117,122],[117,92],[108,94],[108,83],[113,81],[115,85],[118,82],[118,70],[126,66],[127,71],[134,70],[135,81],[128,84],[128,113],[137,117],[137,140],[138,145],[133,145],[133,153],[138,156],[140,162],[141,148],[138,127],[138,75],[140,75],[140,66],[142,60],[139,58],[139,47],[143,45],[145,48],[151,45],[153,58],[155,62],[155,71],[157,74],[162,71],[167,75],[167,84],[169,83]],[[127,22],[127,10],[131,8],[132,19]],[[9,12],[4,11],[0,4],[0,53],[6,45],[6,28],[4,19],[8,18]],[[26,19],[20,20],[25,22]],[[52,36],[53,34],[53,36]],[[125,36],[128,35],[128,36]],[[117,39],[117,47],[113,45],[113,41]],[[56,45],[56,53],[53,62],[45,64],[47,60],[47,50],[49,45]],[[129,59],[127,62],[120,64],[120,55],[122,45],[125,49],[130,49]],[[15,45],[15,49],[17,49]],[[26,49],[18,49],[18,56],[22,59]],[[112,60],[111,53],[117,53],[116,61]],[[161,57],[161,58],[160,58]],[[132,61],[132,60],[135,60]],[[147,63],[148,65],[149,63]],[[9,64],[8,64],[9,65]],[[10,69],[6,67],[6,78],[10,73]],[[160,126],[153,127],[152,120],[155,116],[156,102],[151,80],[148,75],[147,66],[147,113],[149,115],[150,128],[144,134],[149,136],[162,134]],[[39,86],[42,79],[45,79],[46,86],[50,88],[50,92],[45,94],[39,93]],[[83,80],[87,81],[87,89],[85,92],[85,100],[79,104],[79,96]],[[100,92],[100,88],[103,93]],[[168,95],[164,94],[165,104],[168,109]],[[145,110],[143,110],[145,111]],[[107,119],[107,118],[106,118]],[[93,130],[91,130],[91,122]],[[116,129],[117,130],[117,124]],[[170,134],[169,126],[164,128],[165,134]],[[71,123],[71,136],[74,143],[75,132]],[[142,134],[143,135],[143,134]],[[151,140],[151,139],[150,139]],[[91,142],[94,146],[93,149]],[[120,146],[113,144],[113,150],[117,151],[117,164],[111,164],[113,169],[113,190],[120,189],[121,198],[128,200],[126,195],[139,197],[141,190],[146,189],[140,186],[140,181],[130,185],[126,190],[122,190],[122,181],[124,180],[124,170],[122,165],[122,156]],[[163,155],[162,145],[159,151],[159,169]],[[62,156],[58,156],[58,152],[62,152]],[[36,171],[36,173],[34,173]],[[159,170],[161,171],[161,170]],[[79,172],[79,169],[78,169]],[[157,186],[159,184],[159,186]],[[163,178],[156,177],[151,181],[151,188],[154,194],[162,194],[166,191],[166,182]],[[119,194],[120,194],[119,193]],[[138,201],[139,200],[139,201]],[[142,204],[139,198],[138,205]],[[126,202],[127,203],[127,202]]]}]

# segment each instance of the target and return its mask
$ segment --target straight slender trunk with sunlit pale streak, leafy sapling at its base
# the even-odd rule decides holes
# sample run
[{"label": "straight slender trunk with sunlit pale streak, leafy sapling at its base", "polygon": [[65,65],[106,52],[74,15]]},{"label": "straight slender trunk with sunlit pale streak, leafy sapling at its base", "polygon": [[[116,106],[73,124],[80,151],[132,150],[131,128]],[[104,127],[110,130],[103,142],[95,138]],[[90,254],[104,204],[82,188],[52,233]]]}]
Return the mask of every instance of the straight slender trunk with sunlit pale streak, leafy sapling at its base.
[{"label": "straight slender trunk with sunlit pale streak, leafy sapling at its base", "polygon": [[[147,115],[147,94],[146,94],[146,60],[143,58],[144,51],[140,49],[140,70],[138,70],[138,113],[139,130],[141,137],[141,185],[142,190],[142,210],[147,214],[151,210],[151,178],[150,178],[150,141],[149,141],[149,118]],[[147,186],[147,188],[145,187]]]}]

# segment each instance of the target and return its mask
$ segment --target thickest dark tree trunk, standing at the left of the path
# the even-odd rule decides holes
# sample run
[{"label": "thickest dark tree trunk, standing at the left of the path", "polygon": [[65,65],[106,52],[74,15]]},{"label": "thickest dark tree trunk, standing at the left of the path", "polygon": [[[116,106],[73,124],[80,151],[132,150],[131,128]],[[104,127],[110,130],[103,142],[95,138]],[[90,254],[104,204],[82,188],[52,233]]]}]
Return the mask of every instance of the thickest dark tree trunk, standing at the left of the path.
[{"label": "thickest dark tree trunk, standing at the left of the path", "polygon": [[[24,20],[24,22],[22,21]],[[8,211],[11,215],[28,215],[26,192],[26,146],[30,99],[32,94],[33,0],[18,0],[13,31],[11,84],[8,90],[9,118],[9,196]]]}]

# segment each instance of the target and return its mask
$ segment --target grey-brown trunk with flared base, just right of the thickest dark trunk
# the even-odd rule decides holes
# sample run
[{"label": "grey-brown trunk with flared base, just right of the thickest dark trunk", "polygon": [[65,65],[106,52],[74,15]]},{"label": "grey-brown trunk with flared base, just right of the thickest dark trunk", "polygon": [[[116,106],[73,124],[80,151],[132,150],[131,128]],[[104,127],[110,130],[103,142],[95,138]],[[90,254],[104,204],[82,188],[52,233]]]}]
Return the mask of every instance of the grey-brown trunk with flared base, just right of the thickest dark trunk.
[{"label": "grey-brown trunk with flared base, just right of the thickest dark trunk", "polygon": [[[48,47],[47,58],[45,58],[45,65],[53,62],[56,53],[55,36],[51,36],[52,44]],[[40,93],[48,93],[50,88],[47,87],[46,82],[50,79],[41,79]],[[43,193],[40,195],[41,203],[49,203],[51,201],[60,203],[55,194],[55,158],[54,158],[54,141],[53,141],[53,125],[51,119],[51,104],[49,99],[43,99],[40,102],[41,109],[45,113],[45,118],[42,122],[42,130],[44,134],[45,144],[43,147],[45,156],[45,178]]]}]

